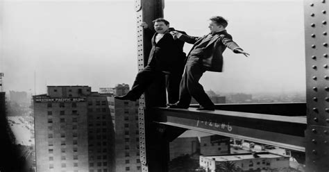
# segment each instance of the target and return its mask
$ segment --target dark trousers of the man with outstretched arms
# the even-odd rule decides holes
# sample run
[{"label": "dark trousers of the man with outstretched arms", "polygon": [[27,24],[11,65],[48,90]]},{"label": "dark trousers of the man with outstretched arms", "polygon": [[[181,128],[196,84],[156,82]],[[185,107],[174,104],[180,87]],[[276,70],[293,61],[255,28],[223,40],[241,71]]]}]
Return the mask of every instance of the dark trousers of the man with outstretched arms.
[{"label": "dark trousers of the man with outstretched arms", "polygon": [[189,57],[185,65],[183,78],[180,81],[178,105],[189,107],[189,103],[191,103],[193,97],[202,107],[214,107],[214,103],[212,103],[209,96],[205,94],[205,90],[199,83],[204,72],[205,69],[199,58]]}]

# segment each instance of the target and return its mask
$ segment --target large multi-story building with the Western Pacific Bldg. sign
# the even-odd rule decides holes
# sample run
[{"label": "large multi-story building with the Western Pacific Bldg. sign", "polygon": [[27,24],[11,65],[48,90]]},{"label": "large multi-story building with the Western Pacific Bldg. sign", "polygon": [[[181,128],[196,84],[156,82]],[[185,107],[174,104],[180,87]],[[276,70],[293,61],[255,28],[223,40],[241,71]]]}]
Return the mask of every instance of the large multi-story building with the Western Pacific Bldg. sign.
[{"label": "large multi-story building with the Western Pacific Bldg. sign", "polygon": [[114,171],[108,96],[88,86],[49,86],[33,96],[37,172]]}]

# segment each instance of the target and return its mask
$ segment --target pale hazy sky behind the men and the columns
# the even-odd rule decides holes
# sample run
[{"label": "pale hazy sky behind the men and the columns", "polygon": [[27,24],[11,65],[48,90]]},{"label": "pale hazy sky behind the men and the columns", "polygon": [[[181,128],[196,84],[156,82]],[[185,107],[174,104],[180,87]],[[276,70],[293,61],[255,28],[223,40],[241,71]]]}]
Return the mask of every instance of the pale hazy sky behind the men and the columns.
[{"label": "pale hazy sky behind the men and the columns", "polygon": [[[223,73],[201,83],[219,92],[305,91],[303,1],[167,1],[165,18],[189,35],[228,19],[228,33],[250,57],[224,53]],[[137,74],[134,1],[1,1],[0,72],[5,89],[46,85],[132,85]],[[189,51],[190,45],[185,46]]]}]

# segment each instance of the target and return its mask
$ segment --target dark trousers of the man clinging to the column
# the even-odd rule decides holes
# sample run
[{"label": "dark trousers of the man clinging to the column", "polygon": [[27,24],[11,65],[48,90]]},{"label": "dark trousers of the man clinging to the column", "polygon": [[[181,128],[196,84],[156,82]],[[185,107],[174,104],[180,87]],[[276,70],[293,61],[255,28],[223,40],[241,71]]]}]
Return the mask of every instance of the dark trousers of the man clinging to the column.
[{"label": "dark trousers of the man clinging to the column", "polygon": [[145,92],[147,87],[149,87],[156,78],[160,78],[165,75],[166,87],[168,92],[169,103],[176,103],[179,98],[179,84],[182,78],[183,72],[171,72],[171,74],[165,74],[162,71],[155,70],[154,67],[146,66],[142,71],[140,71],[133,83],[128,94],[133,98],[140,98]]}]

